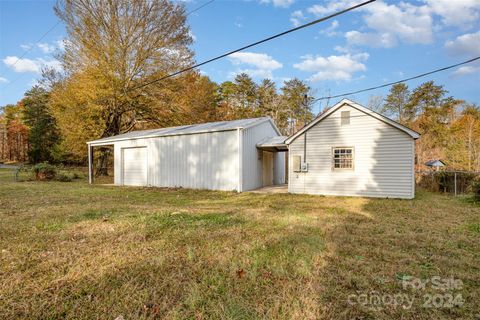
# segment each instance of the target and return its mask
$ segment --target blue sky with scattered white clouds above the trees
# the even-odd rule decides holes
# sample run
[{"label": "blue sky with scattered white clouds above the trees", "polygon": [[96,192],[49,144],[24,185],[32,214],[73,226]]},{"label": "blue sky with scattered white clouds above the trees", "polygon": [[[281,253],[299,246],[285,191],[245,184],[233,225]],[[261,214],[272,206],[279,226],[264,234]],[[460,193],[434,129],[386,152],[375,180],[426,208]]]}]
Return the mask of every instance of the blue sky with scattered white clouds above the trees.
[{"label": "blue sky with scattered white clouds above the trees", "polygon": [[[205,1],[184,2],[187,11]],[[196,60],[203,61],[292,26],[341,10],[359,0],[215,0],[188,17]],[[58,67],[65,37],[54,1],[0,0],[0,105],[15,103],[42,66]],[[29,51],[26,51],[29,50]],[[25,54],[25,52],[27,52]],[[18,60],[23,54],[25,56]],[[315,96],[334,95],[395,81],[480,55],[480,0],[380,1],[203,66],[216,82],[247,72],[278,86],[298,77]],[[480,63],[417,81],[445,85],[450,94],[480,104]],[[388,88],[350,96],[367,104]],[[332,101],[334,102],[334,101]],[[331,102],[331,103],[332,103]],[[317,104],[315,112],[324,106]]]}]

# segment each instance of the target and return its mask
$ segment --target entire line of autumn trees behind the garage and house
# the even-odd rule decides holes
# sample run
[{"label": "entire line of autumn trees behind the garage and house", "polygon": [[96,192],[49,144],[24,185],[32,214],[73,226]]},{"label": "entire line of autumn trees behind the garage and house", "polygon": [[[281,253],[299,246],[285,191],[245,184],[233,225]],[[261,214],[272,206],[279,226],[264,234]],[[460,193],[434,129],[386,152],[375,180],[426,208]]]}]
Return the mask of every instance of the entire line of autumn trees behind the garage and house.
[{"label": "entire line of autumn trees behind the garage and house", "polygon": [[[314,117],[312,90],[299,79],[256,83],[242,73],[217,84],[189,71],[155,82],[194,64],[179,2],[64,0],[54,10],[67,31],[62,72],[44,70],[23,99],[2,107],[0,160],[84,164],[86,141],[132,130],[270,116],[289,135]],[[479,108],[446,95],[433,82],[397,84],[370,107],[422,134],[419,163],[480,170]]]}]

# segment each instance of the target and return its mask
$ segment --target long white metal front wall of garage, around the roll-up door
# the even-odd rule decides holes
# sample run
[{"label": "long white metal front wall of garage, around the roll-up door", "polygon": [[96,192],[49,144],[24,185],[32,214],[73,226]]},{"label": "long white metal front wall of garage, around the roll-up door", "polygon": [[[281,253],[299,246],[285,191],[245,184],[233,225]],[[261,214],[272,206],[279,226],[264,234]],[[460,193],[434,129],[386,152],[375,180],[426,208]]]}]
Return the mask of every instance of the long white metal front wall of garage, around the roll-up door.
[{"label": "long white metal front wall of garage, around the roll-up door", "polygon": [[115,184],[122,184],[121,148],[143,145],[150,186],[238,189],[237,130],[116,142]]}]

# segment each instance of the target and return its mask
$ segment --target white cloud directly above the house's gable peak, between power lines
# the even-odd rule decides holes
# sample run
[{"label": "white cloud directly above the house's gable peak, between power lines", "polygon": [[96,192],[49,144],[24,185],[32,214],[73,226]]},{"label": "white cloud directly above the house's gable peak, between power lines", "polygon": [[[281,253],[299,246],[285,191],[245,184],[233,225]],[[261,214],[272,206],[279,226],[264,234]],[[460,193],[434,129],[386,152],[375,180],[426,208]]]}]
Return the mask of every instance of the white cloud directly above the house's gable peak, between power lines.
[{"label": "white cloud directly above the house's gable peak, between power lines", "polygon": [[368,53],[331,55],[329,57],[306,55],[294,68],[314,72],[310,81],[336,80],[348,81],[354,73],[367,70],[362,63],[368,59]]}]

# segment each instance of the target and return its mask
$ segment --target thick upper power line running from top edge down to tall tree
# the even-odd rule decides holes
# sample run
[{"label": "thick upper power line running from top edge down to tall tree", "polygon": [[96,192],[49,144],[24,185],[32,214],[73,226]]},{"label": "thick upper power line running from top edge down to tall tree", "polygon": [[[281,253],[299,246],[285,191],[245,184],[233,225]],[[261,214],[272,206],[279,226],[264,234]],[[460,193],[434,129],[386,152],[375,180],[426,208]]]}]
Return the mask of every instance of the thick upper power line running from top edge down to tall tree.
[{"label": "thick upper power line running from top edge down to tall tree", "polygon": [[243,50],[245,50],[245,49],[248,49],[248,48],[257,46],[257,45],[259,45],[259,44],[265,43],[265,42],[267,42],[267,41],[270,41],[270,40],[279,38],[279,37],[284,36],[284,35],[287,35],[287,34],[289,34],[289,33],[291,33],[291,32],[295,32],[295,31],[298,31],[298,30],[300,30],[300,29],[304,29],[304,28],[313,26],[313,25],[315,25],[315,24],[317,24],[317,23],[320,23],[320,22],[323,22],[323,21],[325,21],[325,20],[328,20],[328,19],[334,18],[334,17],[336,17],[336,16],[342,15],[342,14],[344,14],[344,13],[347,13],[347,12],[349,12],[349,11],[352,11],[352,10],[355,10],[355,9],[357,9],[357,8],[363,7],[363,6],[367,5],[367,4],[370,4],[370,3],[375,2],[375,1],[376,1],[376,0],[369,0],[369,1],[365,1],[365,2],[359,3],[359,4],[355,5],[355,6],[349,7],[349,8],[347,8],[347,9],[344,9],[344,10],[341,10],[341,11],[338,11],[338,12],[333,13],[333,14],[331,14],[331,15],[328,15],[328,16],[326,16],[326,17],[323,17],[323,18],[320,18],[320,19],[311,21],[311,22],[309,22],[309,23],[303,24],[303,25],[301,25],[301,26],[298,26],[298,27],[293,28],[293,29],[289,29],[289,30],[284,31],[284,32],[281,32],[281,33],[277,33],[277,34],[275,34],[275,35],[273,35],[273,36],[270,36],[270,37],[268,37],[268,38],[259,40],[259,41],[257,41],[257,42],[248,44],[248,45],[243,46],[243,47],[241,47],[241,48],[238,48],[238,49],[229,51],[229,52],[227,52],[227,53],[224,53],[224,54],[222,54],[222,55],[216,56],[215,58],[208,59],[208,60],[203,61],[203,62],[201,62],[201,63],[197,63],[197,64],[195,64],[195,65],[193,65],[193,66],[190,66],[190,67],[181,69],[181,70],[179,70],[179,71],[176,71],[176,72],[174,72],[174,73],[168,74],[168,75],[166,75],[166,76],[160,77],[160,78],[158,78],[158,79],[155,79],[155,80],[152,80],[152,81],[143,83],[143,84],[138,85],[138,86],[136,86],[136,87],[133,87],[133,88],[127,90],[127,91],[131,91],[131,90],[135,90],[135,89],[140,89],[140,88],[146,87],[146,86],[148,86],[148,85],[151,85],[151,84],[153,84],[153,83],[156,83],[156,82],[159,82],[159,81],[162,81],[162,80],[165,80],[165,79],[174,77],[174,76],[179,75],[179,74],[181,74],[181,73],[184,73],[184,72],[187,72],[187,71],[196,69],[196,68],[198,68],[198,67],[201,67],[201,66],[203,66],[203,65],[206,65],[207,63],[211,63],[211,62],[213,62],[213,61],[216,61],[216,60],[225,58],[225,57],[227,57],[227,56],[229,56],[229,55],[231,55],[231,54],[234,54],[234,53],[243,51]]}]

